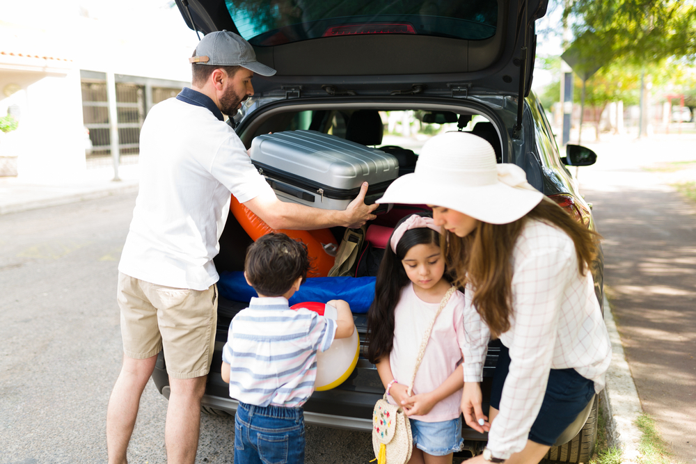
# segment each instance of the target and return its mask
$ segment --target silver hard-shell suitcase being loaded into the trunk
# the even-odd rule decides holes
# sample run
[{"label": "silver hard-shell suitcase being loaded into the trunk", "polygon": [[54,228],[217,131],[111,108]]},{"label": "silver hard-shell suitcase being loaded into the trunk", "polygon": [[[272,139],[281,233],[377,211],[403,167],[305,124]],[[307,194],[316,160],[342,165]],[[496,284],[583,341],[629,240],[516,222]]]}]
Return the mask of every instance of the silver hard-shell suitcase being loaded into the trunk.
[{"label": "silver hard-shell suitcase being loaded into the trunk", "polygon": [[[392,154],[305,130],[254,138],[251,161],[280,200],[321,209],[346,209],[365,181],[365,203],[371,205],[399,173]],[[377,212],[387,207],[381,205]]]}]

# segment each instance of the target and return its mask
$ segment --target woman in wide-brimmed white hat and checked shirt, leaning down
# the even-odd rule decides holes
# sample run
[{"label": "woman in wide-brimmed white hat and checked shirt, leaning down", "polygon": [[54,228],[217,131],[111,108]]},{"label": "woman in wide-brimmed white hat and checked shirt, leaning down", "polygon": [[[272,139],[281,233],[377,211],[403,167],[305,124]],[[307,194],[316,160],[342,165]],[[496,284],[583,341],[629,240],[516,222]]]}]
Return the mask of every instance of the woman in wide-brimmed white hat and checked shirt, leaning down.
[{"label": "woman in wide-brimmed white hat and checked shirt, leaning down", "polygon": [[[599,236],[466,132],[433,137],[416,172],[378,202],[431,205],[446,231],[443,253],[465,288],[461,410],[489,432],[482,456],[467,462],[538,463],[602,390],[611,360],[590,273]],[[480,381],[491,337],[503,347],[486,417]]]}]

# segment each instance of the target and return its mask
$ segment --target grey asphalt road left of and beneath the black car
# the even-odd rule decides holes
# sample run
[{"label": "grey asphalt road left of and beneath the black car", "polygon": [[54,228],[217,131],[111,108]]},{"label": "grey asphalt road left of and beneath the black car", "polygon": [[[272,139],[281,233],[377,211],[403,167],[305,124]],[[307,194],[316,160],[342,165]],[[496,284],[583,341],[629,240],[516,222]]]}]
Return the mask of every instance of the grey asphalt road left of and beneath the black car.
[{"label": "grey asphalt road left of and beneath the black car", "polygon": [[[120,368],[116,266],[135,195],[0,216],[0,464],[106,462]],[[167,401],[148,383],[131,463],[166,463]],[[234,421],[203,416],[196,463],[232,463]],[[367,433],[307,428],[308,463],[367,463]]]}]

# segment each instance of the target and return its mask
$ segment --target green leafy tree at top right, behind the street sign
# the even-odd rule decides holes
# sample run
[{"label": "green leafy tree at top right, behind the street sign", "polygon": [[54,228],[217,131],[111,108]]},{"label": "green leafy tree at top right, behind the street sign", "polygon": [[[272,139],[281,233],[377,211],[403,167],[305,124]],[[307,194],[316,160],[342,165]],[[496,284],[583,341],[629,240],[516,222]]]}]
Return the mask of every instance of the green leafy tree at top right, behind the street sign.
[{"label": "green leafy tree at top right, behind the street sign", "polygon": [[[695,0],[555,0],[555,5],[562,6],[563,22],[572,24],[576,37],[571,47],[580,65],[574,70],[583,74],[583,64],[585,70],[604,65],[587,82],[592,87],[587,97],[593,108],[619,94],[625,101],[627,91],[633,97],[636,79],[643,107],[640,95],[644,95],[646,75],[654,83],[665,76],[673,81],[696,57]],[[665,73],[665,68],[671,72]],[[633,79],[626,79],[629,74]],[[612,88],[615,83],[610,79],[617,78],[631,85]],[[641,117],[641,121],[644,134],[646,120]]]}]

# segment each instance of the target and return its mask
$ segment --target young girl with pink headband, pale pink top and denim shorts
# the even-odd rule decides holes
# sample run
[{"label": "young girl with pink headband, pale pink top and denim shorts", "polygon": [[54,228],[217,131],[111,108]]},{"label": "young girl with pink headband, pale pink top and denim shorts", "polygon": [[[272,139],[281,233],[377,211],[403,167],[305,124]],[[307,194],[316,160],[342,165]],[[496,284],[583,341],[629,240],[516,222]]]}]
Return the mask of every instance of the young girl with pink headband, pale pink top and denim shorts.
[{"label": "young girl with pink headband, pale pink top and denim shorts", "polygon": [[377,365],[387,398],[411,419],[411,464],[452,463],[459,451],[459,401],[463,382],[464,295],[455,291],[437,317],[407,390],[425,331],[452,284],[445,278],[440,230],[433,219],[413,214],[392,233],[377,273],[375,298],[367,313],[367,356]]}]

